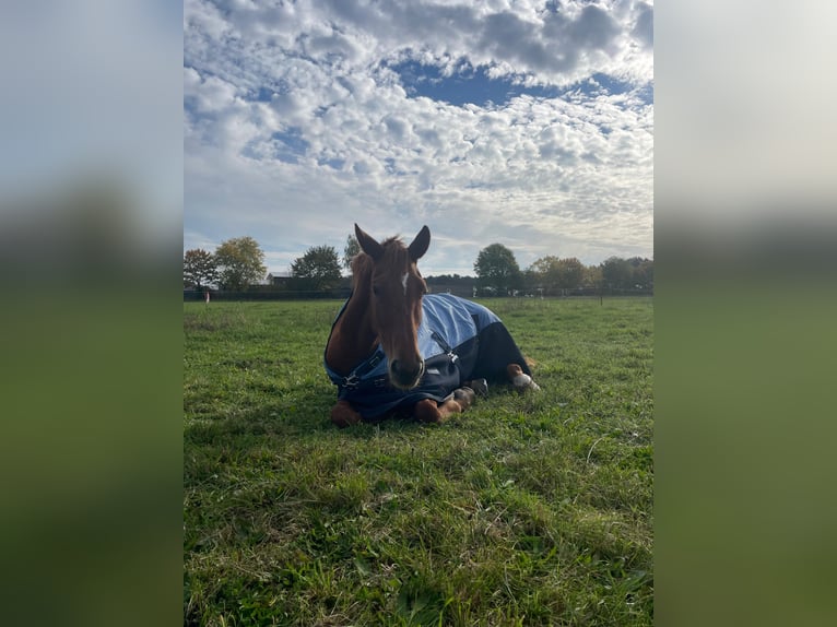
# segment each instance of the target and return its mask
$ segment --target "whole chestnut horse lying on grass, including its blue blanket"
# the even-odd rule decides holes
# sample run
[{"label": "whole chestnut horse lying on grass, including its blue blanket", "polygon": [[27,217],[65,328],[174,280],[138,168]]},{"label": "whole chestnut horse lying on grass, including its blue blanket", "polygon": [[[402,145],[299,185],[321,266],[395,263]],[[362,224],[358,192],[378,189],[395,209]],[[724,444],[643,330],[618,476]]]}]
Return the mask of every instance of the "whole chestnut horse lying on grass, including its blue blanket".
[{"label": "whole chestnut horse lying on grass, including its blue blanket", "polygon": [[339,427],[394,414],[443,423],[464,412],[488,381],[537,390],[529,365],[486,307],[428,294],[417,261],[431,245],[425,225],[409,244],[381,242],[354,225],[352,292],[338,312],[323,365],[338,387],[331,422]]}]

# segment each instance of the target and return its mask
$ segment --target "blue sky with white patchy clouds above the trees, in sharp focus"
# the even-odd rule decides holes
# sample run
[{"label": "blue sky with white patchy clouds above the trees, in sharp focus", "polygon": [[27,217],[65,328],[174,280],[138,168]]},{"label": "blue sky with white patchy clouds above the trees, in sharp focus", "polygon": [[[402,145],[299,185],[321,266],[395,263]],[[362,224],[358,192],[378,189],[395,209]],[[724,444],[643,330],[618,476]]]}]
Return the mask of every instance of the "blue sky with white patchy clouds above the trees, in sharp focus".
[{"label": "blue sky with white patchy clouds above the trees, in sharp focus", "polygon": [[249,235],[270,271],[358,223],[425,275],[500,242],[653,257],[653,5],[186,0],[184,249]]}]

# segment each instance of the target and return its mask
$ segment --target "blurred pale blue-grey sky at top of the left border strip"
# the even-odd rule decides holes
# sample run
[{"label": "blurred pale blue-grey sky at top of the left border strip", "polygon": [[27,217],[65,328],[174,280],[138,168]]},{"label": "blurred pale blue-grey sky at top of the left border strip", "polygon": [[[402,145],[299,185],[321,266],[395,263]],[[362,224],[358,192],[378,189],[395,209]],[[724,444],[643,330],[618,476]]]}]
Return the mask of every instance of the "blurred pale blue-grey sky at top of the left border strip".
[{"label": "blurred pale blue-grey sky at top of the left border strip", "polygon": [[177,2],[3,3],[0,228],[98,185],[133,239],[181,228],[181,58]]}]

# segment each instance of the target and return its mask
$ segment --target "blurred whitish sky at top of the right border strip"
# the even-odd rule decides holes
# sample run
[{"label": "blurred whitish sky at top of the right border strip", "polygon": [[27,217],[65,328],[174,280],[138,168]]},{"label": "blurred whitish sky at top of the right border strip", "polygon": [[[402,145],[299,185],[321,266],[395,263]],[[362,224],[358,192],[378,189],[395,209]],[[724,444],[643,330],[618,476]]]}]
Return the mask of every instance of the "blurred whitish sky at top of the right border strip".
[{"label": "blurred whitish sky at top of the right border strip", "polygon": [[699,220],[742,235],[787,217],[833,226],[837,5],[710,0],[655,9],[656,224]]}]

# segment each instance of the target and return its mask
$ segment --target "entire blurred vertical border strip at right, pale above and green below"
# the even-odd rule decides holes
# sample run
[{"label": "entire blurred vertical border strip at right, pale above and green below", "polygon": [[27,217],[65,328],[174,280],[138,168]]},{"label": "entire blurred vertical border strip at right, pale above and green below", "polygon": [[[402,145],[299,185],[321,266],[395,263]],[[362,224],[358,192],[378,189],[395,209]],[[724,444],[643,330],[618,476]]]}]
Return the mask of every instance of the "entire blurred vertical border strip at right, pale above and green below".
[{"label": "entire blurred vertical border strip at right, pale above and green below", "polygon": [[655,619],[828,624],[837,8],[655,9]]}]

